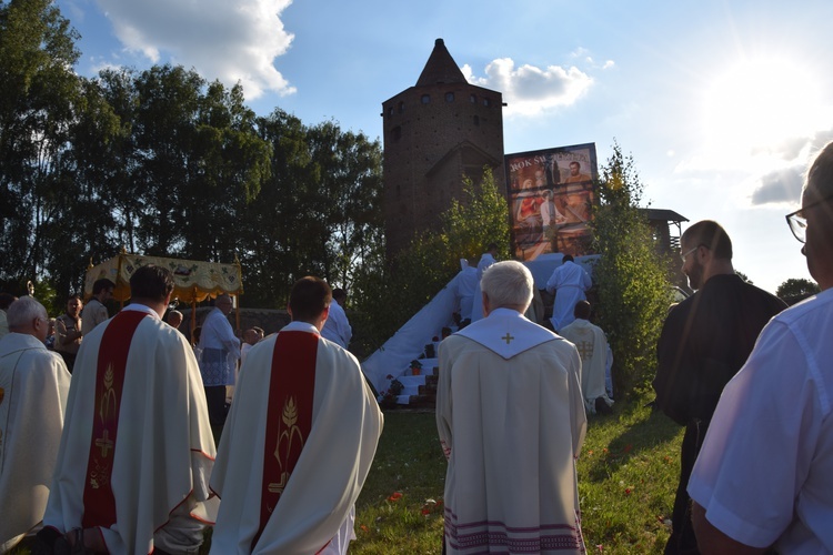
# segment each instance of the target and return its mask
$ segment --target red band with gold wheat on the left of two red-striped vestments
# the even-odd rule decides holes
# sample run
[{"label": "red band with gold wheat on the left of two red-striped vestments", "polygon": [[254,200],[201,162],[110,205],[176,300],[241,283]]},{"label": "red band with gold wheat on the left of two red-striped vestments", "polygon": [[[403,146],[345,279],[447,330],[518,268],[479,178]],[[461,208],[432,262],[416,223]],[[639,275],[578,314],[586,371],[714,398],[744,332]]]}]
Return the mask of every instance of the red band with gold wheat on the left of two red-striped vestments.
[{"label": "red band with gold wheat on the left of two red-striped vestments", "polygon": [[120,312],[101,336],[96,370],[96,411],[84,482],[84,514],[81,519],[84,528],[110,527],[116,523],[116,498],[110,478],[113,474],[121,393],[130,343],[136,329],[147,315],[138,311]]}]

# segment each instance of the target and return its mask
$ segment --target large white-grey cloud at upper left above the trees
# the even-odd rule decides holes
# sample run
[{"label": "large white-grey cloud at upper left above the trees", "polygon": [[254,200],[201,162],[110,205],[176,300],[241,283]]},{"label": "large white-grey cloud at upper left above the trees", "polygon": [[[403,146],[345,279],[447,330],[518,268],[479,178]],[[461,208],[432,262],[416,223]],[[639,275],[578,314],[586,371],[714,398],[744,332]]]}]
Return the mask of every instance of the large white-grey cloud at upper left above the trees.
[{"label": "large white-grey cloud at upper left above the trees", "polygon": [[170,58],[210,81],[240,81],[249,100],[295,92],[273,65],[294,38],[280,19],[291,1],[98,0],[128,50],[153,63]]}]

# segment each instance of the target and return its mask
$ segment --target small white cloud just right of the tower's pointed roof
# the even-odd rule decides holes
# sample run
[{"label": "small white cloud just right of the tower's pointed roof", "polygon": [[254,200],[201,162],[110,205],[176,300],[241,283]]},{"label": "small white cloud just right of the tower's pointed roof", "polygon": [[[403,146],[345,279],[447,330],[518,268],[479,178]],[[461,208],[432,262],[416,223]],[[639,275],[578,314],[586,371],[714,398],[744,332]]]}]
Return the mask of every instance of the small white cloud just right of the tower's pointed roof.
[{"label": "small white cloud just right of the tower's pointed roof", "polygon": [[575,103],[593,79],[575,67],[548,65],[545,69],[523,64],[515,68],[511,58],[500,58],[485,68],[485,77],[473,74],[470,65],[462,68],[470,83],[503,93],[506,115],[534,115],[556,107]]}]

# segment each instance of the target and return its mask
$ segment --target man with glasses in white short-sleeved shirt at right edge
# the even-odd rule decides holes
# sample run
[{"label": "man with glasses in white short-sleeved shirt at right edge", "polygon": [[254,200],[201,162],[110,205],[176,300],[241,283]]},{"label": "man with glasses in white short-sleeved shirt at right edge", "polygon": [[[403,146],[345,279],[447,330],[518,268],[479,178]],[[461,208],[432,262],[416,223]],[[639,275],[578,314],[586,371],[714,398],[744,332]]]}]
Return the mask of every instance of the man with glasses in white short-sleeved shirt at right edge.
[{"label": "man with glasses in white short-sleeved shirt at right edge", "polygon": [[833,143],[787,221],[822,291],[766,325],[717,404],[689,484],[706,553],[833,553]]}]

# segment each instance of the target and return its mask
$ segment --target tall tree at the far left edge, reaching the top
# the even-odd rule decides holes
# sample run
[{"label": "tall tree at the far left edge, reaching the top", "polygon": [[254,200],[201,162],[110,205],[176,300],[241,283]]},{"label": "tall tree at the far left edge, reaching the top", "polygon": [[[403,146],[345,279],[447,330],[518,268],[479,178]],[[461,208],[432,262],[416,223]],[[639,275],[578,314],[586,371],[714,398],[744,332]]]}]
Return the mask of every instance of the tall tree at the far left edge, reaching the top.
[{"label": "tall tree at the far left edge, reaching the top", "polygon": [[0,279],[48,275],[47,233],[72,185],[78,33],[49,0],[0,2]]}]

